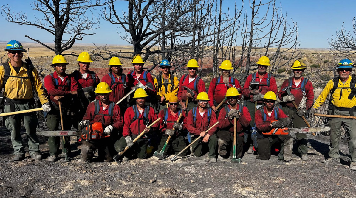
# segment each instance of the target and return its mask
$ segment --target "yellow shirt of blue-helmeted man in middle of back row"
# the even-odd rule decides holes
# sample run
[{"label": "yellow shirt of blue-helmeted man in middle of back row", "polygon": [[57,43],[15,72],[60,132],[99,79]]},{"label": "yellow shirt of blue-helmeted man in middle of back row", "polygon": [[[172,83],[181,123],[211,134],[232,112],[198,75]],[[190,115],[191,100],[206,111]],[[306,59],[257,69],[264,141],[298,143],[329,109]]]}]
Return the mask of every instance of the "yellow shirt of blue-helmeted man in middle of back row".
[{"label": "yellow shirt of blue-helmeted man in middle of back row", "polygon": [[[171,83],[171,74],[169,74],[168,76],[167,85],[164,85],[164,79],[162,78],[162,85],[161,87],[158,87],[157,77],[153,80],[153,83],[155,84],[157,90],[157,98],[161,98],[162,96],[164,96],[166,101],[168,101],[171,96],[177,96],[178,94],[179,80],[177,76],[174,76],[173,84]],[[166,86],[167,86],[167,90],[166,90]]]}]

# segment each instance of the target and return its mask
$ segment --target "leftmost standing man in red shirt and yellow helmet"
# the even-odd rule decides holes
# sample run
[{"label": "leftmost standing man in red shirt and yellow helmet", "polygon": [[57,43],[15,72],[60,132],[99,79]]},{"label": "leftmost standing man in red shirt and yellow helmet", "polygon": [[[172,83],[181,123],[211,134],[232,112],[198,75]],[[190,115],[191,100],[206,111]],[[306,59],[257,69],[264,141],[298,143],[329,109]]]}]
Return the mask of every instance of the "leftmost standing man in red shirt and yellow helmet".
[{"label": "leftmost standing man in red shirt and yellow helmet", "polygon": [[[52,106],[52,110],[48,112],[46,116],[46,125],[49,130],[59,129],[61,117],[59,114],[58,101],[61,102],[62,106],[63,130],[70,130],[73,125],[73,118],[76,119],[74,113],[78,112],[78,103],[76,103],[76,101],[78,101],[78,84],[73,76],[66,74],[68,64],[66,58],[62,55],[56,55],[51,64],[55,71],[45,77],[45,87],[48,91]],[[70,154],[70,137],[66,137],[65,139],[66,149],[68,154]],[[48,161],[54,162],[57,160],[59,144],[60,137],[52,136],[48,138]]]}]

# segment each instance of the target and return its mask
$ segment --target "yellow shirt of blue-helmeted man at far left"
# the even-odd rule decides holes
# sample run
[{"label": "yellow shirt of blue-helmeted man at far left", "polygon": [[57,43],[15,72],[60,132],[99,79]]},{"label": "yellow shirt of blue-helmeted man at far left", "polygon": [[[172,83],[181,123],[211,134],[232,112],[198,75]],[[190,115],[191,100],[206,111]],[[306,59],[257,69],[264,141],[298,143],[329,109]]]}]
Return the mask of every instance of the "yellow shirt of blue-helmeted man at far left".
[{"label": "yellow shirt of blue-helmeted man at far left", "polygon": [[[19,74],[16,73],[15,69],[11,65],[11,61],[9,62],[10,65],[10,77],[6,81],[4,96],[10,99],[31,99],[33,98],[32,93],[32,85],[31,80],[29,78],[19,78],[19,77],[11,77],[11,76],[21,76],[21,77],[28,77],[27,69],[25,63],[22,64]],[[42,87],[42,82],[40,80],[40,76],[38,76],[38,71],[36,68],[32,70],[33,75],[33,86],[37,90],[38,97],[42,105],[44,103],[48,103],[48,98],[45,93],[45,90]],[[4,65],[0,66],[0,90],[2,89],[2,84],[4,82],[5,77],[5,68]]]}]

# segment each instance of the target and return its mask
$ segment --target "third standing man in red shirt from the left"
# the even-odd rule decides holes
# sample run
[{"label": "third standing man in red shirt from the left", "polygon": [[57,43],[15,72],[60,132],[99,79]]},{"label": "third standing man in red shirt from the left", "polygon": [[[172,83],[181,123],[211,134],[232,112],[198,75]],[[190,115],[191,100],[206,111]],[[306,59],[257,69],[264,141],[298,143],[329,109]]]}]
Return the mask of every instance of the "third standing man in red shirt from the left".
[{"label": "third standing man in red shirt from the left", "polygon": [[[109,99],[116,103],[129,92],[129,77],[122,74],[122,63],[119,58],[112,57],[109,61],[109,66],[109,73],[101,81],[106,82],[110,86],[112,92],[110,92]],[[126,111],[126,105],[127,100],[119,103],[121,112]]]}]

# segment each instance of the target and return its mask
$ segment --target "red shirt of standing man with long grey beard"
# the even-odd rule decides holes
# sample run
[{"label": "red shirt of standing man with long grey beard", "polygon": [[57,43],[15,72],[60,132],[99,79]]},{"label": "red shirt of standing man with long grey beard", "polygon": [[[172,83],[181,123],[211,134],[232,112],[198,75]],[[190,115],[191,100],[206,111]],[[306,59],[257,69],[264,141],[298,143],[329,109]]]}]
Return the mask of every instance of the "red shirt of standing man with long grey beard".
[{"label": "red shirt of standing man with long grey beard", "polygon": [[[216,81],[218,80],[218,78],[220,78],[220,82],[218,85],[216,85]],[[233,85],[231,84],[231,76],[229,77],[229,85],[232,87]],[[216,85],[216,86],[215,86]],[[211,80],[210,85],[209,85],[209,90],[208,90],[208,96],[209,96],[209,105],[210,107],[215,106],[215,105],[219,105],[221,101],[224,100],[225,95],[226,95],[226,91],[227,89],[229,89],[230,87],[227,87],[224,84],[223,81],[223,76],[219,76],[216,78],[213,78],[213,80]],[[240,82],[235,79],[235,88],[242,90]],[[241,91],[240,91],[241,92]],[[240,99],[242,97],[242,95],[237,96],[237,99]],[[215,104],[214,104],[214,100],[215,100]],[[227,101],[224,102],[225,104],[227,104]]]}]

